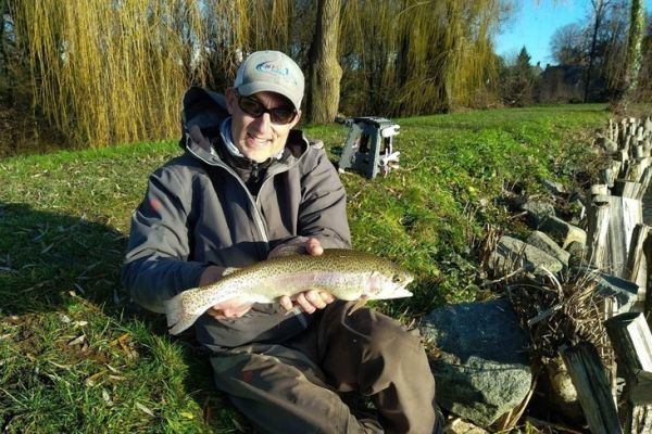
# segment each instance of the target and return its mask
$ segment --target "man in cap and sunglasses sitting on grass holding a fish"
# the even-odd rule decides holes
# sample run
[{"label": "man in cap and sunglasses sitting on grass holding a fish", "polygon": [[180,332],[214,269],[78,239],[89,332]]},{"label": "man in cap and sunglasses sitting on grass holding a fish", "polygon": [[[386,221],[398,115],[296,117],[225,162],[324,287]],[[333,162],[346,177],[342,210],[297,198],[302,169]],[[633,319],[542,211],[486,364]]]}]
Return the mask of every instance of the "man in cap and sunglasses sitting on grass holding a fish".
[{"label": "man in cap and sunglasses sitting on grass holding a fish", "polygon": [[[296,252],[350,248],[346,195],[317,144],[292,128],[303,74],[260,51],[220,95],[184,97],[185,153],[150,177],[131,220],[123,282],[146,308],[222,278],[229,267]],[[417,336],[397,321],[314,289],[296,301],[238,297],[195,324],[217,388],[264,433],[431,433],[435,382]],[[377,416],[342,399],[371,397]]]}]

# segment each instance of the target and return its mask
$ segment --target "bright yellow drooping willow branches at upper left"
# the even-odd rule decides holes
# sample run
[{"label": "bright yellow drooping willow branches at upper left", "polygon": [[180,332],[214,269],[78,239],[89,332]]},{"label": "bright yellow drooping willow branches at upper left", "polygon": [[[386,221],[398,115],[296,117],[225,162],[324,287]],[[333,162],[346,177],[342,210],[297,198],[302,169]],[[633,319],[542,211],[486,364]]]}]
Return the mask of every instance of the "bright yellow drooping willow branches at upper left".
[{"label": "bright yellow drooping willow branches at upper left", "polygon": [[[184,0],[10,0],[38,105],[68,140],[100,146],[178,133],[201,11]],[[195,43],[179,37],[184,25]]]}]

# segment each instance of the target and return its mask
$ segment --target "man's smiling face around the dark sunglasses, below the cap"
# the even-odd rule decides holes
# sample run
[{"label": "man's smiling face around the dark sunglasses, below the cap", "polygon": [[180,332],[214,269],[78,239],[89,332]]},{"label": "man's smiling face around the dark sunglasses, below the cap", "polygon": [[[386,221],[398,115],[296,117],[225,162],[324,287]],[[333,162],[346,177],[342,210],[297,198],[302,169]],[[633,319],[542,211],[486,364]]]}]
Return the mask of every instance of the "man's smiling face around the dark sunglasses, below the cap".
[{"label": "man's smiling face around the dark sunglasses, below the cap", "polygon": [[[292,107],[292,104],[278,93],[259,92],[250,95],[267,110]],[[236,148],[249,159],[262,163],[277,155],[288,140],[290,129],[299,122],[301,112],[289,124],[275,124],[269,113],[254,117],[242,111],[238,104],[238,93],[230,88],[226,91],[226,106],[231,118],[231,135]]]}]

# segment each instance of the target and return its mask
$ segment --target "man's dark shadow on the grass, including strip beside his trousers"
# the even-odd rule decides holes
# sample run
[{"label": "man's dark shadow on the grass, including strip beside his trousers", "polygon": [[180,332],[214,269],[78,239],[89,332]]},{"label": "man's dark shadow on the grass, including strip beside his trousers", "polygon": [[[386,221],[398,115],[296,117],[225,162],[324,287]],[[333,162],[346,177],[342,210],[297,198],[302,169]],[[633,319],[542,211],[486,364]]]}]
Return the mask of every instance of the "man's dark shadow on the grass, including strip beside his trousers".
[{"label": "man's dark shadow on the grass, including strip beside his trousers", "polygon": [[[0,319],[9,319],[25,330],[20,336],[24,339],[34,334],[30,328],[45,322],[39,319],[43,314],[87,308],[88,315],[110,317],[118,324],[112,327],[122,329],[101,331],[108,339],[125,331],[138,333],[134,331],[142,328],[134,327],[134,320],[145,324],[146,333],[166,337],[164,316],[135,305],[122,288],[120,275],[126,245],[127,238],[110,226],[37,210],[25,203],[0,203]],[[136,344],[143,339],[150,341],[147,336],[133,337]],[[215,390],[208,354],[191,333],[176,344],[183,348],[187,367],[184,390],[203,409],[204,425],[224,429],[241,422]],[[38,348],[29,345],[38,354]],[[147,345],[141,349],[147,352]],[[156,359],[149,354],[142,357]]]}]

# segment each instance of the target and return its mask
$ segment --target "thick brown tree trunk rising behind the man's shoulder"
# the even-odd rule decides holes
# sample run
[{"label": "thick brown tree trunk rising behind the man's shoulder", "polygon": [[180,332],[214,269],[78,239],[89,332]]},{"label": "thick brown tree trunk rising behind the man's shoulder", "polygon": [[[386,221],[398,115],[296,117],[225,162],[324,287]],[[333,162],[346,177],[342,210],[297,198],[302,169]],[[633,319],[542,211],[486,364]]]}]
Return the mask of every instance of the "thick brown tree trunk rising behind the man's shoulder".
[{"label": "thick brown tree trunk rising behind the man's shoulder", "polygon": [[308,120],[330,123],[339,108],[342,68],[338,62],[340,0],[319,0],[309,53]]}]

